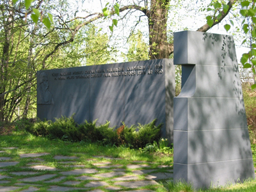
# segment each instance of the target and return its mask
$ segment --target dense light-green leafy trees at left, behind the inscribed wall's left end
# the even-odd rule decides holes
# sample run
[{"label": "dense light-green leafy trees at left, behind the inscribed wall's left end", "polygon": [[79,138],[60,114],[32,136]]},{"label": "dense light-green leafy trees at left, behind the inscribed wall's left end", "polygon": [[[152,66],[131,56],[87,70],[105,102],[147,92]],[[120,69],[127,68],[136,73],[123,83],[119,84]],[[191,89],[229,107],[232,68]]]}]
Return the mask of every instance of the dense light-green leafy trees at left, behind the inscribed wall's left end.
[{"label": "dense light-green leafy trees at left, behind the inscribed wall's left end", "polygon": [[[54,2],[45,4],[43,1],[36,1],[28,10],[22,1],[13,4],[11,0],[5,0],[0,6],[1,122],[28,116],[29,110],[36,107],[37,70],[81,66],[84,57],[92,57],[93,53],[88,45],[94,44],[95,51],[97,44],[93,40],[97,38],[98,42],[101,41],[97,51],[101,50],[106,55],[112,51],[108,50],[107,36],[101,35],[94,26],[82,28],[81,22],[76,19],[63,22],[65,17],[61,14],[67,15],[69,5],[65,0],[58,2],[60,4],[56,5]],[[55,26],[51,25],[51,29],[47,29],[43,22],[36,24],[29,15],[37,8],[46,12],[59,10]],[[72,28],[77,31],[72,31]],[[105,57],[102,62],[108,60],[109,57]]]}]

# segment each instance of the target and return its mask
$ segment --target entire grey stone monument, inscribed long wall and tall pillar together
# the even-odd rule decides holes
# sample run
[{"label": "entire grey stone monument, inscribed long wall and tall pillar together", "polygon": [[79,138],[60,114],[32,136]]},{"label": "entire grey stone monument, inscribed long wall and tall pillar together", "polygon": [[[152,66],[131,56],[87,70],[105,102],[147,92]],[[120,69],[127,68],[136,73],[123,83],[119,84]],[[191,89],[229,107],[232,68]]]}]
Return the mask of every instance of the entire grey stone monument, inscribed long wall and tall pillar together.
[{"label": "entire grey stone monument, inscribed long wall and tall pillar together", "polygon": [[[38,117],[75,114],[77,123],[108,120],[112,127],[157,118],[162,136],[173,141],[175,181],[209,188],[254,179],[232,36],[181,31],[174,33],[174,48],[174,61],[39,71]],[[174,102],[173,63],[182,65],[182,90]]]}]

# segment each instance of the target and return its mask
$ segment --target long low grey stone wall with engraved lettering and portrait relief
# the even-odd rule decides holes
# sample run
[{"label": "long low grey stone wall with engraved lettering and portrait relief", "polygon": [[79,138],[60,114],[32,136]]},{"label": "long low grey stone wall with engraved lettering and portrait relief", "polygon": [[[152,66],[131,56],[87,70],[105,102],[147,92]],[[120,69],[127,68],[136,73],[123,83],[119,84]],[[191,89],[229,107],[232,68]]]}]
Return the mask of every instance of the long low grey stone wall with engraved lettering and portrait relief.
[{"label": "long low grey stone wall with engraved lettering and portrait relief", "polygon": [[37,73],[37,116],[72,116],[111,127],[163,123],[161,135],[173,141],[172,60],[41,70]]}]

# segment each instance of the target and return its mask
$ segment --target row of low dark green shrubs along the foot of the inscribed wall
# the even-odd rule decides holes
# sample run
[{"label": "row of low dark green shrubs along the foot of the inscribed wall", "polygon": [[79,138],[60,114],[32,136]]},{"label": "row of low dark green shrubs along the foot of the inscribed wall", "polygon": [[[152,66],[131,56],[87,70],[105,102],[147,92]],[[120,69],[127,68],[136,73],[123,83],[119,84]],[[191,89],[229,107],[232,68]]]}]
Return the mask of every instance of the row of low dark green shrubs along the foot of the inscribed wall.
[{"label": "row of low dark green shrubs along the foot of the inscribed wall", "polygon": [[99,142],[103,145],[126,145],[131,148],[142,148],[147,143],[159,140],[163,125],[156,126],[156,120],[153,120],[146,125],[138,124],[127,127],[124,124],[118,129],[114,129],[114,127],[109,127],[109,122],[103,125],[96,125],[96,122],[97,120],[85,121],[78,125],[73,116],[70,118],[62,116],[56,118],[55,122],[38,120],[35,124],[26,125],[25,129],[35,136],[47,136],[51,139],[89,141]]}]

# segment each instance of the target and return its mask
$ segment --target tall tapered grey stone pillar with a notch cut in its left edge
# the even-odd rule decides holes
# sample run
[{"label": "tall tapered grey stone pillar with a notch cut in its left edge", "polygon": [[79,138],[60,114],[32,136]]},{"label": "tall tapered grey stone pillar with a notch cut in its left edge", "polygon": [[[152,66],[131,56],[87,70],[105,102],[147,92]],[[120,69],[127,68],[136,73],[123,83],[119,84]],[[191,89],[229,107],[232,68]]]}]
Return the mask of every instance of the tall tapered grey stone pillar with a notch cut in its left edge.
[{"label": "tall tapered grey stone pillar with a notch cut in its left edge", "polygon": [[195,188],[255,178],[232,36],[174,34],[182,90],[174,99],[174,180]]}]

